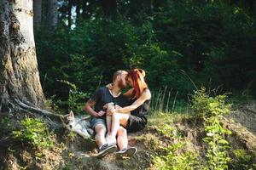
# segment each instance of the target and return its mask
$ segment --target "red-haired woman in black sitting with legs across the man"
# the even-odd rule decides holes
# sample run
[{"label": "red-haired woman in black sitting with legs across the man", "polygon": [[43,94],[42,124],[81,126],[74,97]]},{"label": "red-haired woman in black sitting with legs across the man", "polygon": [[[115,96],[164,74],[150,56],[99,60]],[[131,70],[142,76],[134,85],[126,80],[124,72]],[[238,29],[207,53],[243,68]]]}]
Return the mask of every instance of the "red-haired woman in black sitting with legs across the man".
[{"label": "red-haired woman in black sitting with legs across the man", "polygon": [[108,132],[106,138],[108,144],[116,143],[115,136],[120,125],[128,132],[136,132],[146,126],[151,93],[144,77],[145,71],[142,69],[129,71],[125,80],[131,89],[125,93],[125,96],[130,99],[131,105],[123,108],[118,105],[108,108],[107,126],[111,127],[111,132]]}]

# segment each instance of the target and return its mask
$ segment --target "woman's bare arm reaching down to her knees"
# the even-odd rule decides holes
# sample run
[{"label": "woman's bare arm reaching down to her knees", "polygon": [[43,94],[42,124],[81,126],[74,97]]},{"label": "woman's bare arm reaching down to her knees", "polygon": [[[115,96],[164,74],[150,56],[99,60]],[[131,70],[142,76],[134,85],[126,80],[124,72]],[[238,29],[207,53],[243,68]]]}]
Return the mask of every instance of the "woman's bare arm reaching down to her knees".
[{"label": "woman's bare arm reaching down to her knees", "polygon": [[129,106],[125,106],[123,108],[119,108],[119,109],[115,109],[113,110],[113,112],[117,112],[117,113],[129,113],[133,110],[136,110],[137,107],[139,107],[140,105],[143,105],[143,103],[147,100],[151,98],[151,94],[149,90],[145,90],[143,92],[143,94],[141,95],[141,97],[139,97],[135,102],[133,102],[133,104],[129,105]]}]

